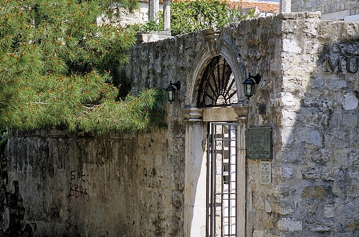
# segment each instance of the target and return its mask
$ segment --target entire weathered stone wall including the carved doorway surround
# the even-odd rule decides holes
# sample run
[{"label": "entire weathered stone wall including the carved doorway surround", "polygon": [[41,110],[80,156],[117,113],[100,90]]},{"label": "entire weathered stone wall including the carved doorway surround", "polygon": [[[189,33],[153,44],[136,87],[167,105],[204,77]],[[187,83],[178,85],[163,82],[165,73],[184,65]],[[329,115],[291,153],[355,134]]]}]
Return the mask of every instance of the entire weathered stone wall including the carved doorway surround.
[{"label": "entire weathered stone wall including the carved doorway surround", "polygon": [[262,76],[249,100],[238,93],[241,128],[273,128],[272,184],[260,184],[259,160],[245,160],[239,236],[359,236],[358,27],[281,13],[135,46],[126,68],[135,93],[181,81],[165,107],[168,128],[102,138],[11,134],[7,190],[18,181],[24,224],[35,236],[205,236],[207,122],[196,93],[221,54],[238,90],[248,72]]}]

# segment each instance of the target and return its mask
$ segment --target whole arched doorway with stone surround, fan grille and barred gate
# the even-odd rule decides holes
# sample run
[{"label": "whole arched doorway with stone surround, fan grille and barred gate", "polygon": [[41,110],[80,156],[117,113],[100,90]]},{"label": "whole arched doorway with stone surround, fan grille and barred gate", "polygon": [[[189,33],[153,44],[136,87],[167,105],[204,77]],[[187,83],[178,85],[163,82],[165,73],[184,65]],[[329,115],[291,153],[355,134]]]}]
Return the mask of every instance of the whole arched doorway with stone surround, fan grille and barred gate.
[{"label": "whole arched doorway with stone surround, fan grille and barred gate", "polygon": [[213,45],[207,45],[197,57],[186,95],[188,107],[182,110],[185,235],[242,237],[248,104],[243,103],[238,85],[246,73],[239,54],[227,42],[217,41],[215,48],[208,50]]}]

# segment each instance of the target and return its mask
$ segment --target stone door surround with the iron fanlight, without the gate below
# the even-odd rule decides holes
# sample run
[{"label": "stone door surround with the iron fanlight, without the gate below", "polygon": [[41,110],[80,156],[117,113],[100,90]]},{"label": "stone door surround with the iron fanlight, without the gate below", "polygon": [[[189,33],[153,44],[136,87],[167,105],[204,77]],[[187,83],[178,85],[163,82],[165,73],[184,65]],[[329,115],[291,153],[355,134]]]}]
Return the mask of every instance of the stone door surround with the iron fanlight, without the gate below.
[{"label": "stone door surround with the iron fanlight, without the gate below", "polygon": [[[248,104],[241,82],[246,71],[240,54],[228,40],[215,32],[205,37],[187,81],[185,107],[181,109],[186,121],[185,135],[185,236],[205,237],[207,206],[207,141],[208,122],[237,121],[238,124],[238,237],[245,231],[245,131]],[[239,102],[239,103],[237,103]],[[232,105],[237,103],[236,105]],[[229,107],[228,105],[232,105]],[[212,108],[215,107],[216,108]],[[210,107],[210,108],[206,108]]]}]

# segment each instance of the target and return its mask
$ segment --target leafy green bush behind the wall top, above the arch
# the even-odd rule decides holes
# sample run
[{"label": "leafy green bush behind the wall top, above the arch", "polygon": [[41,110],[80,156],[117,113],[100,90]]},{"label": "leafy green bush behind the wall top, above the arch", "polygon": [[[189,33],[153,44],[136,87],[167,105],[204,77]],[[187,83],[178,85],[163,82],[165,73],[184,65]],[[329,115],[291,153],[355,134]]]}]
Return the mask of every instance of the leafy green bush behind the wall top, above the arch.
[{"label": "leafy green bush behind the wall top, above the arch", "polygon": [[194,0],[171,3],[171,34],[178,35],[206,28],[220,28],[254,16],[254,10],[230,9],[221,0]]}]

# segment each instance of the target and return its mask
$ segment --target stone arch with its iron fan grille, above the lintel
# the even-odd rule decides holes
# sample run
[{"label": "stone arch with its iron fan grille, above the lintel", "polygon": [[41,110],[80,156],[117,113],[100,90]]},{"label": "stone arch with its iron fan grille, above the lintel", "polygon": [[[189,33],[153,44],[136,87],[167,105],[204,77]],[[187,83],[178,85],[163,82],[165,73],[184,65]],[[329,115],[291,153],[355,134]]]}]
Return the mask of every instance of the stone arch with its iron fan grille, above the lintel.
[{"label": "stone arch with its iron fan grille, above the lintel", "polygon": [[228,106],[244,98],[246,70],[235,46],[211,38],[200,49],[186,92],[186,107]]}]

